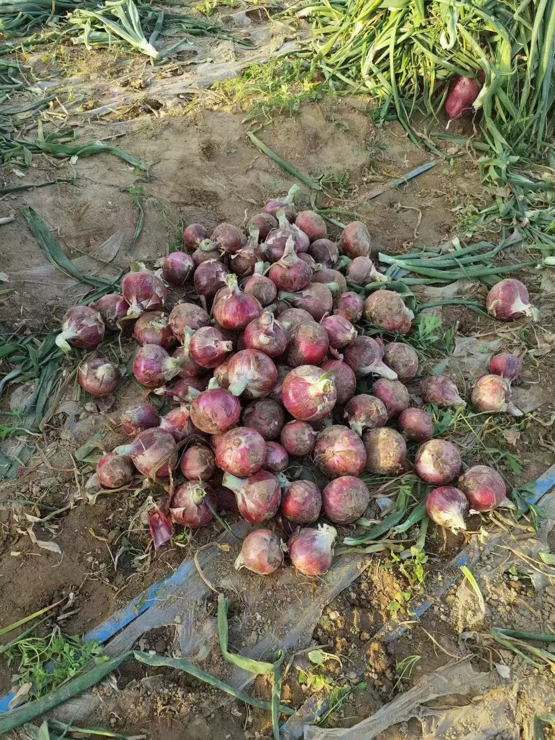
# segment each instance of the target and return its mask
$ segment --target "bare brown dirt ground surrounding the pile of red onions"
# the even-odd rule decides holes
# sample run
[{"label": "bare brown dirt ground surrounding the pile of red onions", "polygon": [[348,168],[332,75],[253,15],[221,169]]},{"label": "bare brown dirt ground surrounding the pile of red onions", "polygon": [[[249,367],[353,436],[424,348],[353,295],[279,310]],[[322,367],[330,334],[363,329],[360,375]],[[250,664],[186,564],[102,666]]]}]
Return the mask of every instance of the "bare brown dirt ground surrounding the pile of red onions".
[{"label": "bare brown dirt ground surrounding the pile of red onions", "polygon": [[[90,141],[109,141],[117,135],[115,145],[149,164],[149,178],[107,155],[82,158],[74,164],[36,156],[25,182],[54,175],[76,181],[74,185],[9,195],[0,201],[0,217],[16,213],[14,223],[1,226],[2,271],[10,276],[13,288],[0,301],[7,331],[53,329],[67,307],[84,295],[82,284],[72,283],[54,270],[39,270],[47,260],[18,215],[21,206],[36,209],[70,258],[94,255],[110,235],[123,232],[118,254],[109,265],[100,265],[98,272],[117,275],[127,271],[132,260],[154,266],[178,243],[184,222],[201,222],[207,228],[221,221],[240,226],[270,197],[286,192],[292,179],[252,147],[245,135],[248,126],[241,120],[240,112],[225,110],[197,110],[189,115],[162,112],[157,117],[143,115],[124,125],[90,123],[81,132]],[[319,104],[303,105],[298,115],[277,116],[258,135],[305,175],[341,175],[343,192],[337,197],[331,193],[320,195],[318,204],[359,214],[369,226],[376,253],[399,254],[413,247],[443,243],[460,229],[469,203],[480,208],[487,202],[474,163],[465,156],[449,158],[459,152],[449,152],[445,161],[437,160],[433,169],[410,183],[373,197],[375,190],[391,178],[401,177],[432,158],[413,147],[400,127],[391,124],[376,129],[356,99],[326,98]],[[4,168],[3,177],[9,184],[17,180],[10,166]],[[144,231],[133,246],[129,243],[138,212],[129,188],[138,193],[145,213]],[[308,205],[306,191],[300,203]],[[553,317],[548,298],[542,295],[532,272],[526,275],[526,282],[542,312],[535,329],[519,325],[499,332],[498,326],[465,309],[444,309],[442,314],[444,328],[458,323],[460,337],[501,340],[501,346],[525,356],[525,374],[516,391],[531,403],[530,414],[517,426],[497,421],[488,431],[491,448],[508,451],[521,460],[522,471],[515,472],[506,455],[496,457],[514,485],[534,480],[554,462]],[[478,298],[485,296],[483,286],[467,286],[465,290]],[[172,300],[176,298],[172,296]],[[132,343],[124,338],[122,347],[125,360],[131,355]],[[459,371],[464,382],[471,383],[472,373],[464,368]],[[98,431],[105,435],[101,440],[105,449],[123,441],[113,431],[110,419],[115,419],[138,391],[128,383],[107,414],[100,413],[94,404],[83,406],[83,400],[75,409],[70,405],[73,392],[70,384],[65,399],[69,413],[56,414],[37,440],[41,454],[27,465],[29,472],[0,488],[0,626],[73,592],[72,613],[59,624],[70,634],[87,633],[221,534],[220,525],[215,524],[183,543],[169,544],[154,553],[148,548],[144,502],[149,494],[163,500],[164,491],[135,491],[99,496],[94,503],[87,501],[87,474],[75,468],[73,452]],[[62,429],[65,431],[61,435]],[[504,432],[503,446],[499,435]],[[477,451],[470,443],[467,452],[466,462],[476,459]],[[497,455],[488,454],[490,460],[491,455]],[[33,545],[27,533],[33,522],[29,515],[44,517],[68,504],[71,506],[66,511],[48,522],[33,525],[36,537],[53,539],[61,555]],[[469,530],[477,534],[471,546],[482,549],[473,572],[484,593],[483,612],[464,580],[457,579],[445,593],[438,590],[445,578],[445,564],[466,544],[462,537],[450,536],[443,542],[439,531],[432,532],[423,583],[413,574],[403,573],[385,554],[361,555],[360,576],[323,607],[314,625],[312,643],[306,645],[325,646],[320,649],[337,659],[326,659],[323,665],[315,666],[309,662],[306,650],[295,656],[284,682],[283,703],[296,708],[314,692],[329,699],[339,696],[333,690],[345,688],[349,693],[337,707],[332,706],[324,724],[348,727],[450,660],[470,657],[474,671],[488,675],[487,688],[482,686],[471,696],[465,693],[465,699],[439,700],[437,717],[442,713],[445,716],[433,728],[426,724],[429,718],[425,720],[421,715],[421,724],[416,719],[403,721],[388,730],[387,736],[395,740],[432,733],[451,740],[463,736],[531,738],[531,716],[533,719],[534,715],[554,711],[553,675],[549,669],[542,673],[530,667],[509,650],[499,650],[499,645],[487,636],[494,626],[553,630],[554,571],[538,565],[534,547],[539,540],[526,524],[515,526],[505,515],[474,517],[472,525]],[[496,536],[504,534],[505,539],[488,548],[486,528]],[[555,544],[548,530],[542,534],[546,550]],[[281,613],[290,608],[298,593],[315,598],[320,585],[301,586],[295,579],[281,582],[278,576],[269,576],[262,584],[246,571],[233,571],[236,551],[233,543],[230,551],[218,556],[216,585],[226,589],[231,599],[233,647],[248,650],[268,636],[279,636],[284,626]],[[531,578],[537,575],[537,568],[542,571],[541,582]],[[397,622],[405,623],[406,630],[399,639],[388,642],[380,630],[392,618],[391,603],[407,589],[414,602],[428,592],[433,603],[420,621],[411,616],[410,609],[401,608]],[[256,593],[256,599],[252,593]],[[198,608],[206,624],[213,623],[215,594],[208,592]],[[145,634],[139,645],[159,654],[177,654],[178,628],[176,619],[172,625]],[[212,650],[217,645],[214,633],[205,638],[204,653],[202,645],[196,646],[199,665],[229,679],[229,666],[216,657],[218,651]],[[4,692],[9,690],[13,667],[1,661],[0,656],[0,688]],[[269,682],[263,677],[255,681],[254,689],[247,690],[269,699]],[[248,711],[240,702],[227,702],[222,696],[177,671],[145,669],[127,662],[115,679],[99,684],[87,695],[87,701],[80,704],[77,724],[111,727],[128,736],[144,734],[152,739],[171,740],[184,733],[192,740],[271,736],[269,713]],[[460,713],[454,719],[455,705]]]}]

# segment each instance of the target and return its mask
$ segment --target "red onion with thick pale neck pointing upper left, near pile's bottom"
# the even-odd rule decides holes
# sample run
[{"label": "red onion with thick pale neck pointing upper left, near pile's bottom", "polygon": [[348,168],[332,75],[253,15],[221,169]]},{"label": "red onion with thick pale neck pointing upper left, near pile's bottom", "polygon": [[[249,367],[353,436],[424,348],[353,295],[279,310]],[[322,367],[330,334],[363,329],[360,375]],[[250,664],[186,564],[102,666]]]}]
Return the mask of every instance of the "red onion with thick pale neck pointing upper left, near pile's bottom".
[{"label": "red onion with thick pale neck pointing upper left, near pile's bottom", "polygon": [[248,478],[226,473],[223,485],[235,494],[241,517],[252,524],[272,519],[280,507],[280,487],[275,476],[266,470],[259,470]]}]

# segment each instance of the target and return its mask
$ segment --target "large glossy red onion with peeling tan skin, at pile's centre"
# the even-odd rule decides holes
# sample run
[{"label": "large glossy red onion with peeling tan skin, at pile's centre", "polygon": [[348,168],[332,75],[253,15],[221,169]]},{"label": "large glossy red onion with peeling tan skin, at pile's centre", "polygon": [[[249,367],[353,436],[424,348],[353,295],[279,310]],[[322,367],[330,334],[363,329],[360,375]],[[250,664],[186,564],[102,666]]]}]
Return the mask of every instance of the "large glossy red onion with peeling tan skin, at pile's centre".
[{"label": "large glossy red onion with peeling tan skin, at pile's centre", "polygon": [[[328,373],[323,373],[314,365],[301,365],[286,375],[281,397],[283,406],[292,417],[301,421],[317,421],[332,411],[337,393]],[[283,446],[286,448],[286,445]]]}]

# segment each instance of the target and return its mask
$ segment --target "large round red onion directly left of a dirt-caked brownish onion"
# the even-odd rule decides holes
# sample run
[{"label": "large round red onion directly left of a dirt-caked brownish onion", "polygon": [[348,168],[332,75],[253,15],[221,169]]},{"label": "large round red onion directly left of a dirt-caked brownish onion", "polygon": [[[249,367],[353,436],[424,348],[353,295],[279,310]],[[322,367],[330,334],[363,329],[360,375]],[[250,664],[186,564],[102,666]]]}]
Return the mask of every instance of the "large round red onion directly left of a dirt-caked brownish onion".
[{"label": "large round red onion directly left of a dirt-caked brownish onion", "polygon": [[360,437],[340,424],[326,427],[317,434],[312,457],[328,478],[360,475],[366,465],[366,452]]}]

